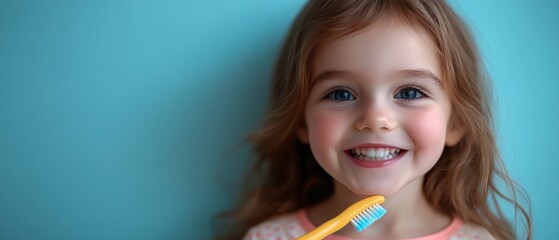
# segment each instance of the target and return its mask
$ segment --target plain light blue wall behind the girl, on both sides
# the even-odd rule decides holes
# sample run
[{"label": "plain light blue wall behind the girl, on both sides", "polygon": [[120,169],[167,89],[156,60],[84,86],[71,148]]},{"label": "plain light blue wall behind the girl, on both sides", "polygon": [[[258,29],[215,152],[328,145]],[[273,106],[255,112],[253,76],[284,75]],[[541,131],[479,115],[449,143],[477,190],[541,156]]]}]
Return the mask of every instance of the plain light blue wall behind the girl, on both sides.
[{"label": "plain light blue wall behind the girl, on both sides", "polygon": [[[0,239],[209,238],[304,2],[1,0]],[[559,4],[451,3],[494,79],[535,237],[552,239]]]}]

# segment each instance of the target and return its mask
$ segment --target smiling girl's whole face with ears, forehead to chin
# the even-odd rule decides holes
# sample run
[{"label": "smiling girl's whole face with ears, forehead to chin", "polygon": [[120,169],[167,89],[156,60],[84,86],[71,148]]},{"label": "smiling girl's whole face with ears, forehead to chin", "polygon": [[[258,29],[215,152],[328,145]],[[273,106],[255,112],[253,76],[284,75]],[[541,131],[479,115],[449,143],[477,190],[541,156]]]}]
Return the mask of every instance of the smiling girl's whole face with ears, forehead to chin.
[{"label": "smiling girl's whole face with ears, forehead to chin", "polygon": [[[299,138],[357,195],[392,195],[421,181],[460,127],[449,120],[441,63],[428,35],[378,22],[321,45]],[[415,184],[421,186],[420,184]]]}]

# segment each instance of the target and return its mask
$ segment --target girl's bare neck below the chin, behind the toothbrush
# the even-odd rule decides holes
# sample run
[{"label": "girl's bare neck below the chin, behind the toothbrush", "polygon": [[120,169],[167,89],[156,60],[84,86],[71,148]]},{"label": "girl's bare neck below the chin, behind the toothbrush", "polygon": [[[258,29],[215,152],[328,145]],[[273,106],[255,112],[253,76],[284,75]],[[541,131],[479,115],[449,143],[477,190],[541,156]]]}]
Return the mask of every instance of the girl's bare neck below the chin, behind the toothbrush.
[{"label": "girl's bare neck below the chin, behind the toothbrush", "polygon": [[[381,204],[387,213],[373,225],[358,233],[348,224],[336,235],[346,237],[371,237],[394,239],[420,237],[436,233],[450,224],[450,216],[437,212],[422,191],[423,179],[418,179],[400,189],[396,194],[385,196]],[[335,217],[351,204],[363,199],[342,184],[335,182],[334,195],[309,209],[309,219],[315,225]]]}]

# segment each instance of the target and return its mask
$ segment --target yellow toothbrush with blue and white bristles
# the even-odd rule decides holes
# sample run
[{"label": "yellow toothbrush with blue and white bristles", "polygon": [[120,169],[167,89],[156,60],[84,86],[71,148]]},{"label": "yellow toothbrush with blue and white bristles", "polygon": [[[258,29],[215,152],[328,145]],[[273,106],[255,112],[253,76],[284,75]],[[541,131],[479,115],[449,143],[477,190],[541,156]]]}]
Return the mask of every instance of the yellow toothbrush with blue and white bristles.
[{"label": "yellow toothbrush with blue and white bristles", "polygon": [[361,232],[384,216],[386,210],[379,205],[383,202],[384,197],[380,195],[365,198],[349,206],[335,218],[330,219],[296,240],[323,239],[340,230],[349,222],[351,222],[358,232]]}]

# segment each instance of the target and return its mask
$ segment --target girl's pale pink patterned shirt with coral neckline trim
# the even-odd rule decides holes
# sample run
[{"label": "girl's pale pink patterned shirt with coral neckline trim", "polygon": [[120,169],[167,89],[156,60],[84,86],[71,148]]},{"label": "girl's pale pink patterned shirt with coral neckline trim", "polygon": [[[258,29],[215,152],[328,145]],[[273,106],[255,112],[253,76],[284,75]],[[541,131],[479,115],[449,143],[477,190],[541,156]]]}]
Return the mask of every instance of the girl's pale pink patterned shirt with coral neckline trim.
[{"label": "girl's pale pink patterned shirt with coral neckline trim", "polygon": [[[251,228],[243,240],[292,240],[315,229],[304,209],[291,214],[275,217]],[[460,218],[452,219],[445,229],[418,238],[406,240],[467,240],[467,239],[495,239],[483,227],[463,223]],[[358,240],[354,238],[330,235],[325,240]]]}]

